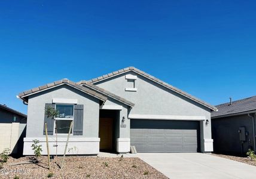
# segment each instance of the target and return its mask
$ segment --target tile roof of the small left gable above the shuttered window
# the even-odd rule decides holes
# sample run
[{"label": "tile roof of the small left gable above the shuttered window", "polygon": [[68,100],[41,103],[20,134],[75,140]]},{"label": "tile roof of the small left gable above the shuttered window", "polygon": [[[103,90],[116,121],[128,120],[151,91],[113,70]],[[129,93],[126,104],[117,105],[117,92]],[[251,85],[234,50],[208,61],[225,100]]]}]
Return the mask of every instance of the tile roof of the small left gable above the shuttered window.
[{"label": "tile roof of the small left gable above the shuttered window", "polygon": [[36,87],[36,88],[31,89],[31,90],[21,92],[19,94],[19,97],[22,98],[22,100],[28,102],[28,99],[26,99],[26,97],[28,95],[32,95],[32,94],[34,94],[36,92],[41,92],[43,90],[47,90],[48,88],[57,87],[57,86],[63,85],[63,84],[69,85],[69,86],[71,86],[73,88],[77,88],[77,90],[83,91],[83,92],[85,92],[85,93],[87,93],[89,95],[92,95],[93,97],[99,98],[102,101],[106,101],[108,99],[107,97],[105,97],[104,95],[100,94],[99,92],[90,90],[90,89],[88,89],[86,87],[82,87],[81,85],[78,85],[75,82],[70,81],[69,79],[62,79],[60,81],[55,81],[55,82],[52,82],[50,84],[43,85],[41,87]]}]

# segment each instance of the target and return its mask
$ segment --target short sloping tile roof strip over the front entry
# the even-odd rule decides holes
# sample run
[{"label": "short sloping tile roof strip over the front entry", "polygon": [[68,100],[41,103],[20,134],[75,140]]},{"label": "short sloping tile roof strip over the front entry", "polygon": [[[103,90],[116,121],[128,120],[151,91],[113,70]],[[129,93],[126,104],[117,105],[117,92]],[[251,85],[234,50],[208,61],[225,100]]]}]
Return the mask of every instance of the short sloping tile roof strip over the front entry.
[{"label": "short sloping tile roof strip over the front entry", "polygon": [[122,98],[122,97],[120,97],[120,96],[118,96],[118,95],[115,95],[115,94],[113,94],[112,92],[106,91],[106,90],[104,90],[103,88],[97,87],[96,85],[93,85],[93,84],[90,83],[90,82],[87,82],[87,81],[80,81],[80,82],[78,82],[78,84],[80,84],[80,85],[86,85],[87,87],[92,88],[93,90],[102,92],[103,94],[108,95],[109,97],[114,98],[115,100],[120,101],[121,103],[127,104],[128,106],[131,106],[131,107],[135,106],[134,103],[132,103],[132,102],[126,100],[125,98]]}]

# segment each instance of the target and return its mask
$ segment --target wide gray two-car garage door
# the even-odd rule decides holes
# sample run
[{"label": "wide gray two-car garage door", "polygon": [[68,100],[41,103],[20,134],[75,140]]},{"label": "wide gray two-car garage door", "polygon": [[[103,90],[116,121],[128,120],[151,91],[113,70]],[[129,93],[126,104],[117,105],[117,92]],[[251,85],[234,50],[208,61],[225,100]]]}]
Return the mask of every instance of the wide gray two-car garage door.
[{"label": "wide gray two-car garage door", "polygon": [[200,150],[198,121],[130,121],[131,145],[138,152],[197,152]]}]

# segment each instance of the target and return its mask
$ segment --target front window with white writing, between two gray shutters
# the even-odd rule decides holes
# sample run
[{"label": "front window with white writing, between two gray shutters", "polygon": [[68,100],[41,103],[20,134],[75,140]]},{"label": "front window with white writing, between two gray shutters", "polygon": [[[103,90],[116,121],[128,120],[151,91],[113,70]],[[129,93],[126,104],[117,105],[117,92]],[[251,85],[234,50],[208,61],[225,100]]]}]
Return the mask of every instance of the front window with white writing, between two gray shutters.
[{"label": "front window with white writing, between two gray shutters", "polygon": [[74,120],[74,105],[56,104],[56,110],[59,112],[59,115],[55,118],[56,124],[54,124],[54,128],[57,126],[58,134],[68,134],[70,124]]}]

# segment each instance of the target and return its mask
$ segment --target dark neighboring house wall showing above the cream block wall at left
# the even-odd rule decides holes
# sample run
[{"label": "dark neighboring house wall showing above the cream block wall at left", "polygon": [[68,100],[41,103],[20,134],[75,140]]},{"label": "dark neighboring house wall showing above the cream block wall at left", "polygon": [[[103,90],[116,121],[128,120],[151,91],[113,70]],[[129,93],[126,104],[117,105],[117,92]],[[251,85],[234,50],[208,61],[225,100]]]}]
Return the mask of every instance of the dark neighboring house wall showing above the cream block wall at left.
[{"label": "dark neighboring house wall showing above the cream block wall at left", "polygon": [[14,122],[14,116],[16,116],[17,118],[16,122],[26,123],[26,119],[23,119],[23,116],[17,115],[13,112],[0,108],[0,123],[12,123]]}]

